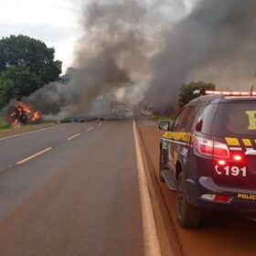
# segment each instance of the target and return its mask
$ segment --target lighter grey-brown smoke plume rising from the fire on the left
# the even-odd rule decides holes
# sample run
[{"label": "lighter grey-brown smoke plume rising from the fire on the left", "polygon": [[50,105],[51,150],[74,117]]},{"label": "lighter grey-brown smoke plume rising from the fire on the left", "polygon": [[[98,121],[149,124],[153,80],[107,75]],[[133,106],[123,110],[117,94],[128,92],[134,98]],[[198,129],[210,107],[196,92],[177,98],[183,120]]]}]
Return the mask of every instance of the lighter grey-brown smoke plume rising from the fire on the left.
[{"label": "lighter grey-brown smoke plume rising from the fire on the left", "polygon": [[92,101],[104,94],[131,106],[142,101],[152,80],[151,59],[163,43],[158,35],[167,21],[184,13],[185,5],[176,0],[91,1],[67,81],[46,85],[28,103],[43,114],[65,116],[89,112]]}]

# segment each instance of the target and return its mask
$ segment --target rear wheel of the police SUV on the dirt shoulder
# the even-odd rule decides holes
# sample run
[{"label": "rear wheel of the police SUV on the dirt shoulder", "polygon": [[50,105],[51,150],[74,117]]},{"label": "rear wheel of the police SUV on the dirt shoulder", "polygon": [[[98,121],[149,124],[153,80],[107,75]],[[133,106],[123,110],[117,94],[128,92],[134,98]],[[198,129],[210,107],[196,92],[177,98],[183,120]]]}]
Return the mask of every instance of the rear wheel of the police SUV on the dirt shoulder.
[{"label": "rear wheel of the police SUV on the dirt shoulder", "polygon": [[176,213],[178,222],[183,228],[197,229],[202,225],[202,210],[187,201],[185,177],[182,172],[179,174],[176,184]]}]

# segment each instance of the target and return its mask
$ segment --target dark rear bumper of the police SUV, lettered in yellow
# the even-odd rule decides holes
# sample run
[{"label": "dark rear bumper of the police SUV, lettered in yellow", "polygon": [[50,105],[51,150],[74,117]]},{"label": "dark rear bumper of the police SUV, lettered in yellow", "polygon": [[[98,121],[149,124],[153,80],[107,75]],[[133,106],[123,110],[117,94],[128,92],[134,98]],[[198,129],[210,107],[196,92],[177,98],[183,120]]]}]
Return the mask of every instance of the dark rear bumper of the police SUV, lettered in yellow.
[{"label": "dark rear bumper of the police SUV, lettered in yellow", "polygon": [[[188,201],[199,208],[238,213],[254,212],[255,210],[256,214],[256,190],[220,187],[214,182],[212,177],[200,176],[197,181],[187,179],[187,192]],[[223,203],[202,198],[203,195],[225,195],[230,196],[231,199],[229,202]]]}]

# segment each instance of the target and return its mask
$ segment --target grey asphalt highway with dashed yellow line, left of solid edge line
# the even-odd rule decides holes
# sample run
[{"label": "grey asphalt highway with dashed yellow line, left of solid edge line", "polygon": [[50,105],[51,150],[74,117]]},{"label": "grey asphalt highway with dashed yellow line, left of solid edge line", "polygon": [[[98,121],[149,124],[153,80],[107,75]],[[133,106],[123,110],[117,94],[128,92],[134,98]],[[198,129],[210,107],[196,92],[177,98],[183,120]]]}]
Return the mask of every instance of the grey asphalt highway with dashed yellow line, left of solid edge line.
[{"label": "grey asphalt highway with dashed yellow line, left of solid edge line", "polygon": [[0,139],[0,255],[144,255],[133,122]]}]

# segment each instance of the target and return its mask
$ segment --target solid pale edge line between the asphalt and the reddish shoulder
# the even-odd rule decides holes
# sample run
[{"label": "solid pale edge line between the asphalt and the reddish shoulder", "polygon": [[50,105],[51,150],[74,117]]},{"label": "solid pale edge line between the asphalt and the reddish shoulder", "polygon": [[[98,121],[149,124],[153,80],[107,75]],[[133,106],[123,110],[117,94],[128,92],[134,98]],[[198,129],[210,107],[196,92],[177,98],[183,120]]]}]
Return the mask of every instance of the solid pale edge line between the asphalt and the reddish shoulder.
[{"label": "solid pale edge line between the asphalt and the reddish shoulder", "polygon": [[155,228],[155,219],[153,213],[152,202],[150,199],[148,184],[145,175],[143,156],[138,141],[138,133],[136,129],[136,124],[133,122],[133,134],[134,134],[134,144],[137,159],[138,168],[138,179],[139,179],[139,189],[142,205],[142,217],[144,226],[144,247],[145,256],[160,256],[160,244]]}]

